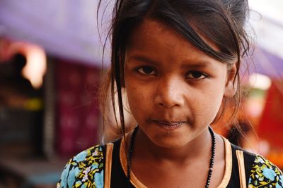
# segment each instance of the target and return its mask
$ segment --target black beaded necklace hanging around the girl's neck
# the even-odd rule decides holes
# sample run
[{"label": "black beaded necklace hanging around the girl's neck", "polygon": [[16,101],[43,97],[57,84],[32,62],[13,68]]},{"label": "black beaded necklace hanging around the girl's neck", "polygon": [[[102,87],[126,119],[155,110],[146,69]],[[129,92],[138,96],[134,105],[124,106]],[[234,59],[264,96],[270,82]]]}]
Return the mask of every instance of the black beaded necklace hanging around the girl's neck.
[{"label": "black beaded necklace hanging around the girl's neck", "polygon": [[[132,133],[132,136],[129,140],[129,152],[127,154],[127,184],[128,187],[131,186],[131,161],[132,161],[132,153],[134,151],[134,138],[136,137],[137,131],[139,130],[139,125],[137,125],[134,128],[134,132]],[[214,165],[214,157],[215,157],[215,135],[212,130],[212,127],[209,126],[209,132],[212,135],[212,156],[210,157],[209,161],[209,170],[208,170],[208,175],[207,175],[207,182],[205,183],[205,188],[209,187],[210,184],[210,179],[212,177],[212,168]]]}]

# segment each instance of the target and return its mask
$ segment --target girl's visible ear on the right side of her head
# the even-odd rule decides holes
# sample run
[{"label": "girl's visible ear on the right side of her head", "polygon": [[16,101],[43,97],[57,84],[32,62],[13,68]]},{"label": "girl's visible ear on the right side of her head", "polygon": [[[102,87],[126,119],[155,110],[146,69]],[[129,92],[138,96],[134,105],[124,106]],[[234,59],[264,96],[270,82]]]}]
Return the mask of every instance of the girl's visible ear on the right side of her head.
[{"label": "girl's visible ear on the right side of her head", "polygon": [[236,63],[233,63],[233,65],[231,65],[227,73],[226,85],[224,90],[224,97],[226,98],[233,97],[237,92],[238,82],[237,82],[237,77],[235,77],[236,73],[237,73]]}]

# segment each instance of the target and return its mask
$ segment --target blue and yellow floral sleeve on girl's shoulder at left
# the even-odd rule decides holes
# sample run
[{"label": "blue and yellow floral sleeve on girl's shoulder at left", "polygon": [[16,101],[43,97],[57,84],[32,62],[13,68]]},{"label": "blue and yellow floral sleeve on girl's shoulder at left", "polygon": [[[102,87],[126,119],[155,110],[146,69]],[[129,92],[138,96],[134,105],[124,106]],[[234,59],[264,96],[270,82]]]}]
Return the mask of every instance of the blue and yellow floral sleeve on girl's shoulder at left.
[{"label": "blue and yellow floral sleeve on girl's shoulder at left", "polygon": [[103,187],[104,148],[93,146],[71,158],[57,187]]}]

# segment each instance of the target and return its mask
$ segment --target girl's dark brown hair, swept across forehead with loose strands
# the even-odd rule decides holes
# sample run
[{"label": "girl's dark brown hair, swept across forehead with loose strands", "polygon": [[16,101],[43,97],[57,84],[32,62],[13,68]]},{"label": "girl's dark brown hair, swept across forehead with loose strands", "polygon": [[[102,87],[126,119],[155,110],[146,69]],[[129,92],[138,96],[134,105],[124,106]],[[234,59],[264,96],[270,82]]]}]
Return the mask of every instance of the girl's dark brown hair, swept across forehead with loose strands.
[{"label": "girl's dark brown hair, swept across forehead with loose strands", "polygon": [[[100,7],[101,0],[98,4]],[[112,11],[112,23],[108,37],[112,42],[111,66],[108,78],[101,89],[103,114],[110,89],[110,99],[115,113],[117,101],[121,134],[125,135],[125,120],[122,101],[122,78],[125,62],[125,49],[134,28],[145,19],[151,18],[168,25],[208,56],[232,65],[236,62],[234,87],[238,92],[230,102],[233,112],[230,120],[236,117],[240,104],[239,69],[241,59],[248,54],[250,42],[244,29],[248,17],[247,0],[116,0]],[[219,50],[215,50],[202,39],[204,37]],[[115,99],[117,97],[117,99]],[[214,122],[224,113],[227,99]],[[104,114],[105,115],[105,114]]]}]

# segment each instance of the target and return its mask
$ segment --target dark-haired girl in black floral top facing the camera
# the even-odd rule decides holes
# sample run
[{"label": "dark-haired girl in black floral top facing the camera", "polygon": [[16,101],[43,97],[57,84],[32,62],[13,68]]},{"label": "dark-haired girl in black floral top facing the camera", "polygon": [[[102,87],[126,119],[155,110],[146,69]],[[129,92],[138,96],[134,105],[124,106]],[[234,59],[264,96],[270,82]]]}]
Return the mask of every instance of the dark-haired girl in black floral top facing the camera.
[{"label": "dark-haired girl in black floral top facing the camera", "polygon": [[238,109],[248,2],[117,0],[113,14],[106,85],[121,137],[72,158],[58,187],[283,187],[275,165],[210,127],[226,104],[231,118]]}]

